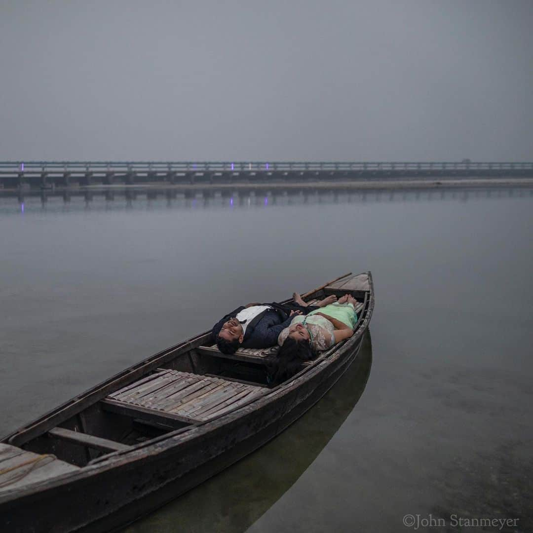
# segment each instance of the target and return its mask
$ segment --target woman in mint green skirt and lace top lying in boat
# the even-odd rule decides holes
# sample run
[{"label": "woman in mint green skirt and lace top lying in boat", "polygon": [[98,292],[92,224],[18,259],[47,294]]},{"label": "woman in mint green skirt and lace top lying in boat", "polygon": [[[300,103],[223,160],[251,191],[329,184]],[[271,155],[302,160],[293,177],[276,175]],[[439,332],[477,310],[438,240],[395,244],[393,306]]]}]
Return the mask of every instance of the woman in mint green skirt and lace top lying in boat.
[{"label": "woman in mint green skirt and lace top lying in boat", "polygon": [[293,317],[290,326],[279,334],[281,348],[277,357],[269,360],[269,382],[278,384],[289,379],[301,370],[302,362],[350,338],[357,323],[357,304],[353,296],[345,294],[336,303],[313,310],[305,317]]}]

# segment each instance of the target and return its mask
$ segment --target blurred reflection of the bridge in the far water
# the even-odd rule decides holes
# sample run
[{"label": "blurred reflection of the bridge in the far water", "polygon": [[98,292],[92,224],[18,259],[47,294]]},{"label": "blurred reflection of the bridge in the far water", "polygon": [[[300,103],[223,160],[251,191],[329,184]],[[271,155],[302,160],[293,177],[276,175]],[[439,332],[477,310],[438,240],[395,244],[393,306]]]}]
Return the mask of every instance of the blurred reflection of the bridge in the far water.
[{"label": "blurred reflection of the bridge in the far water", "polygon": [[[0,191],[0,211],[15,209],[12,199],[17,199],[21,211],[39,211],[62,206],[63,211],[91,209],[94,211],[135,208],[269,208],[272,206],[366,204],[392,202],[427,202],[452,200],[466,203],[487,198],[530,198],[533,188],[500,189],[410,189],[410,190],[349,190],[257,188],[255,190],[231,189],[91,189],[68,191]],[[40,201],[37,201],[37,200]],[[22,208],[22,204],[25,207]],[[68,208],[67,208],[68,207]]]}]

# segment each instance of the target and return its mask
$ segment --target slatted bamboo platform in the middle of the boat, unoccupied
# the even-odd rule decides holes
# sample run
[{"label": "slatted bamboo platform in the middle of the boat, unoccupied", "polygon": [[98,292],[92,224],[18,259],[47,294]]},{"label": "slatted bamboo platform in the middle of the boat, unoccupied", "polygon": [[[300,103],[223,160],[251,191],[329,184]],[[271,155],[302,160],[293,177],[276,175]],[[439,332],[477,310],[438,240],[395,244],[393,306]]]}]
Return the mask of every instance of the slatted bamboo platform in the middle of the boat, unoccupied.
[{"label": "slatted bamboo platform in the middle of the boat, unoccupied", "polygon": [[264,391],[265,387],[249,383],[165,369],[110,394],[101,405],[104,410],[152,422],[193,424],[219,416]]}]

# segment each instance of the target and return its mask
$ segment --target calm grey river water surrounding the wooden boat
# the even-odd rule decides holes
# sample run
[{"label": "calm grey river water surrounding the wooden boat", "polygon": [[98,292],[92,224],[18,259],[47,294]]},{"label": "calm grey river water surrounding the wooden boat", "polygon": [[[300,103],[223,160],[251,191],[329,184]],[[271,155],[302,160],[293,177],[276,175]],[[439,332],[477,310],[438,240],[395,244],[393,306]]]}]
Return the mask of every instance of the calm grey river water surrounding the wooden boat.
[{"label": "calm grey river water surrounding the wooden boat", "polygon": [[0,198],[2,434],[237,305],[374,275],[358,364],[128,533],[533,530],[533,191],[20,200]]}]

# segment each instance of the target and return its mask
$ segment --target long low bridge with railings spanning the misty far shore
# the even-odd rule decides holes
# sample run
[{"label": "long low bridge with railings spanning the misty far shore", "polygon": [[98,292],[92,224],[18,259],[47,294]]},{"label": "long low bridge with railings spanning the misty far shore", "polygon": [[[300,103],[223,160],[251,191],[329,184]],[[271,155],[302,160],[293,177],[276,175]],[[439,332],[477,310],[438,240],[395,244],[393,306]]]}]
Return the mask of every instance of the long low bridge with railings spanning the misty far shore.
[{"label": "long low bridge with railings spanning the misty far shore", "polygon": [[405,161],[0,161],[0,187],[531,178],[533,163]]}]

